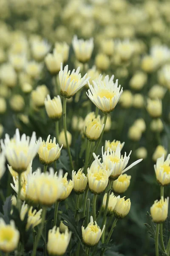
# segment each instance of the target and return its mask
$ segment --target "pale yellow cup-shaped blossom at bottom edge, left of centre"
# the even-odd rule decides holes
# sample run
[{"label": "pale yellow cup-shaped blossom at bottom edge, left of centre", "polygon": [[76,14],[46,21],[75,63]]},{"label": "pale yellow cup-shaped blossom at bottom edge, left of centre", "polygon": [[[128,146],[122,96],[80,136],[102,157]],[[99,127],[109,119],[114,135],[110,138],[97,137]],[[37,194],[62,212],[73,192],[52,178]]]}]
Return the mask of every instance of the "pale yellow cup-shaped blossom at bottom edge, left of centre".
[{"label": "pale yellow cup-shaped blossom at bottom edge, left of centre", "polygon": [[68,247],[71,239],[71,232],[65,230],[64,233],[59,232],[59,227],[54,226],[48,231],[47,251],[49,255],[63,255]]}]

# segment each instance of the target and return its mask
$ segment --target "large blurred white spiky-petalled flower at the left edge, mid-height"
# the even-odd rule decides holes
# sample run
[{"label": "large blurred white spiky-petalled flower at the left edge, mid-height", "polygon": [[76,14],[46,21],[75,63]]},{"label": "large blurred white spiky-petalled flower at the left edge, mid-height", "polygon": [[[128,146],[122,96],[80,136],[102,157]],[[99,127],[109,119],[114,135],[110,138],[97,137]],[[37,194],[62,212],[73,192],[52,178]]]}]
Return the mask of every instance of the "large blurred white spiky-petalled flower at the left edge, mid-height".
[{"label": "large blurred white spiky-petalled flower at the left edge, mid-height", "polygon": [[26,171],[29,163],[35,157],[39,148],[39,143],[36,144],[35,142],[35,132],[33,132],[30,139],[30,137],[26,137],[26,134],[23,134],[20,137],[18,129],[16,129],[16,133],[11,140],[8,134],[6,134],[4,142],[1,140],[1,147],[5,152],[6,159],[14,171]]}]

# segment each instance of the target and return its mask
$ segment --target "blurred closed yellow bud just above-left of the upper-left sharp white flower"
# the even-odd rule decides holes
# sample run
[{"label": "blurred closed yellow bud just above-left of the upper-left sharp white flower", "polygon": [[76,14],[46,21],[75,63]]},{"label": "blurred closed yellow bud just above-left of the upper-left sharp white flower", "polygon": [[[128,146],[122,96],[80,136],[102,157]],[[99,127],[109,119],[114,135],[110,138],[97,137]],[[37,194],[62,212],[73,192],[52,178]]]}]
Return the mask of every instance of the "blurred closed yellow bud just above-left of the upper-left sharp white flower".
[{"label": "blurred closed yellow bud just above-left of the upper-left sharp white flower", "polygon": [[47,66],[48,71],[51,74],[57,74],[60,70],[61,63],[63,62],[63,56],[61,53],[57,52],[54,49],[53,54],[48,53],[45,57],[45,64]]}]

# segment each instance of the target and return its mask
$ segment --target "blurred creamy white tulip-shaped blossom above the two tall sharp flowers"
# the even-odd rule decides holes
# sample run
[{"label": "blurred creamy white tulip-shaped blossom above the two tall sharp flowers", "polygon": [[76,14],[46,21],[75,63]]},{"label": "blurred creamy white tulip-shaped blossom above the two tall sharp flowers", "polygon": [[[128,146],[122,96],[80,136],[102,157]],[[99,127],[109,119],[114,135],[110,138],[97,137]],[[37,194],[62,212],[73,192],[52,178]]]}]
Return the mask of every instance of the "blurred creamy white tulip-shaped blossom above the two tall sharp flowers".
[{"label": "blurred creamy white tulip-shaped blossom above the two tall sharp flowers", "polygon": [[78,39],[77,35],[74,35],[72,45],[78,61],[85,63],[91,58],[91,54],[94,49],[93,38],[90,38],[89,40],[83,40]]}]

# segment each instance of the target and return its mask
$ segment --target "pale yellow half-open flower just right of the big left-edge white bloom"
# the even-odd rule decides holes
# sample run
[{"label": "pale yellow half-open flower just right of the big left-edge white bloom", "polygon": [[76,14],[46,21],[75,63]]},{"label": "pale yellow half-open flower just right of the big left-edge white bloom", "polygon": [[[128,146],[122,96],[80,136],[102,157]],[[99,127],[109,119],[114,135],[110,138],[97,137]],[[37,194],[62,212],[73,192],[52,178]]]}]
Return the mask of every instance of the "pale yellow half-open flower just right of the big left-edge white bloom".
[{"label": "pale yellow half-open flower just right of the big left-edge white bloom", "polygon": [[59,148],[59,144],[56,144],[55,137],[53,142],[50,139],[50,135],[48,135],[46,142],[44,140],[42,141],[42,138],[40,138],[37,141],[37,145],[40,145],[38,149],[40,163],[50,165],[59,158],[62,146]]}]

